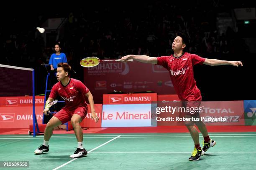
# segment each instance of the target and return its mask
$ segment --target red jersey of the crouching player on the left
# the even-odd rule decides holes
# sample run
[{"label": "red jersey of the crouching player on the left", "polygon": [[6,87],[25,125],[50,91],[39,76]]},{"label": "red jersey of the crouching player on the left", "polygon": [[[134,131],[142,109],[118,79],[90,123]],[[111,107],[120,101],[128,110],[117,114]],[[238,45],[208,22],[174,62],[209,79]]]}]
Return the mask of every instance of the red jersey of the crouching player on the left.
[{"label": "red jersey of the crouching player on the left", "polygon": [[51,89],[49,97],[55,99],[59,95],[65,100],[65,107],[74,110],[80,106],[87,106],[84,95],[89,89],[79,80],[70,78],[69,83],[64,86],[61,81],[57,82]]}]

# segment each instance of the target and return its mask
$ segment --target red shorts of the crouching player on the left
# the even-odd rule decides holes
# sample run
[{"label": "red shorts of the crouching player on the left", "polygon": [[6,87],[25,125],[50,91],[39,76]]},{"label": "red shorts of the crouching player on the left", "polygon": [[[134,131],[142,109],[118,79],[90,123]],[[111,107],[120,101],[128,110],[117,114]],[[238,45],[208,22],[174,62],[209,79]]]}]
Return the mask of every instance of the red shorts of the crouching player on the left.
[{"label": "red shorts of the crouching player on the left", "polygon": [[62,123],[66,123],[71,120],[74,114],[82,117],[82,120],[87,115],[87,106],[77,107],[75,110],[69,110],[67,107],[63,107],[54,116],[57,117]]}]

